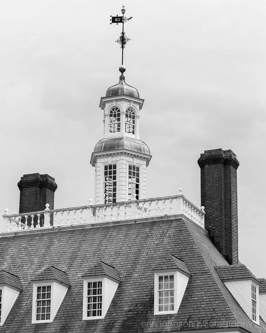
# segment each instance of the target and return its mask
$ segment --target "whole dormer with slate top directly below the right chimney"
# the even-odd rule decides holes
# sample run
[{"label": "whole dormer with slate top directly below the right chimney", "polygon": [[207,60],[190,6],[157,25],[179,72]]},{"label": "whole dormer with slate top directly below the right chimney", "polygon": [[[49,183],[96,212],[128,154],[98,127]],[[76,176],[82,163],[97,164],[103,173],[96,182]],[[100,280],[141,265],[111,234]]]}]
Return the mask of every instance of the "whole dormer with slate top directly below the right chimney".
[{"label": "whole dormer with slate top directly below the right chimney", "polygon": [[215,266],[228,290],[240,304],[249,318],[260,324],[260,281],[244,264]]}]

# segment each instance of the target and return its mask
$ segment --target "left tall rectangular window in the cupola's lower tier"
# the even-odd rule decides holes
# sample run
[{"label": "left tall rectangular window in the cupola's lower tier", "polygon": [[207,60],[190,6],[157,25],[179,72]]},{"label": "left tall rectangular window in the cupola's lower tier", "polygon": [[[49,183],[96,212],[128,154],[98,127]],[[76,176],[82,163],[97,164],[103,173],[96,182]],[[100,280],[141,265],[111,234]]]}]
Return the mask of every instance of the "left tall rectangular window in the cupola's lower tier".
[{"label": "left tall rectangular window in the cupola's lower tier", "polygon": [[116,202],[116,164],[104,165],[104,203]]}]

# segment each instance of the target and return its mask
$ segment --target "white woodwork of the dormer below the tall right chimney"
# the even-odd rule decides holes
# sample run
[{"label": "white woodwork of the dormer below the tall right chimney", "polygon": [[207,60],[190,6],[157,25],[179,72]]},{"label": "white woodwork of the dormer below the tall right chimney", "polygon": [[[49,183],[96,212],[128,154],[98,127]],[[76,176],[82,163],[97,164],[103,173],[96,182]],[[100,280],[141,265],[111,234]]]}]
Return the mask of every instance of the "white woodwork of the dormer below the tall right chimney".
[{"label": "white woodwork of the dormer below the tall right chimney", "polygon": [[[226,287],[235,297],[237,302],[247,313],[249,318],[252,320],[252,298],[251,298],[251,285],[252,280],[235,280],[225,281]],[[255,283],[254,283],[255,284]],[[255,284],[256,285],[256,284]],[[257,285],[257,321],[260,322],[260,301],[259,301],[259,286]]]}]

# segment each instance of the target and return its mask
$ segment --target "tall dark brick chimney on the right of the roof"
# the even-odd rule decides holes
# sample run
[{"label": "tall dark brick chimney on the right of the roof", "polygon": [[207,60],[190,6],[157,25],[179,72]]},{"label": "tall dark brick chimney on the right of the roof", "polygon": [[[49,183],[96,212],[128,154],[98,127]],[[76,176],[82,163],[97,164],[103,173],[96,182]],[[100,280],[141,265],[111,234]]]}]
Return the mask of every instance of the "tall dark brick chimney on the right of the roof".
[{"label": "tall dark brick chimney on the right of the roof", "polygon": [[201,168],[201,204],[205,206],[205,228],[216,248],[230,264],[238,263],[239,161],[232,150],[205,150]]}]

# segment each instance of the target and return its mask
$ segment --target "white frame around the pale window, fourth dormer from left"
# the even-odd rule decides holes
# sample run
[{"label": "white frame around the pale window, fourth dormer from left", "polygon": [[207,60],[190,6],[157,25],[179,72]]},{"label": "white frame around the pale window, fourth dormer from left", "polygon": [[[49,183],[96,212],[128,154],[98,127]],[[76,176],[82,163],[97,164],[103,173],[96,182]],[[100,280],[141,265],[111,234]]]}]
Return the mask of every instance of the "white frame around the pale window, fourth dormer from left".
[{"label": "white frame around the pale window, fourth dormer from left", "polygon": [[[159,311],[159,276],[174,275],[174,310]],[[177,271],[167,270],[154,273],[154,314],[177,313]]]}]

